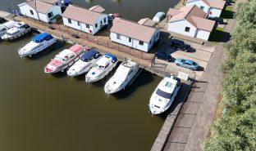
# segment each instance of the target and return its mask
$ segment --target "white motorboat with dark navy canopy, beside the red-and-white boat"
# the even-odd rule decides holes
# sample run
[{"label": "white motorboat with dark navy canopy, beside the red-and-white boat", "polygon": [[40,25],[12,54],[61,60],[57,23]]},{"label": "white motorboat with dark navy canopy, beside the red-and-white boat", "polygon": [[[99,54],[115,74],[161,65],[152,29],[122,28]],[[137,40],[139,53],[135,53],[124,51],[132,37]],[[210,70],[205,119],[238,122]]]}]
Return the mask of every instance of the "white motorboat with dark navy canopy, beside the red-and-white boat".
[{"label": "white motorboat with dark navy canopy, beside the red-and-white boat", "polygon": [[66,71],[67,75],[75,77],[87,73],[101,56],[102,55],[96,49],[89,49],[89,51],[86,51],[83,56],[80,57],[80,60],[76,61],[75,64]]}]

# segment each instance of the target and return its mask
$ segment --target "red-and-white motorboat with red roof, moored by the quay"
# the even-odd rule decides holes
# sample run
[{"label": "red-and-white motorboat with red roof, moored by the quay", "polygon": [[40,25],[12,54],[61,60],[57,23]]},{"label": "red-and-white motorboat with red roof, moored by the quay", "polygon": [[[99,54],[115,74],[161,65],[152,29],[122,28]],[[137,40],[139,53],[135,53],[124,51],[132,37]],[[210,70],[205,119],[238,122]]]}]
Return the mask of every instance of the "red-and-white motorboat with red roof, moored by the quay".
[{"label": "red-and-white motorboat with red roof, moored by the quay", "polygon": [[44,73],[57,73],[71,67],[80,56],[87,51],[87,47],[75,44],[69,49],[59,52],[49,64],[44,67]]}]

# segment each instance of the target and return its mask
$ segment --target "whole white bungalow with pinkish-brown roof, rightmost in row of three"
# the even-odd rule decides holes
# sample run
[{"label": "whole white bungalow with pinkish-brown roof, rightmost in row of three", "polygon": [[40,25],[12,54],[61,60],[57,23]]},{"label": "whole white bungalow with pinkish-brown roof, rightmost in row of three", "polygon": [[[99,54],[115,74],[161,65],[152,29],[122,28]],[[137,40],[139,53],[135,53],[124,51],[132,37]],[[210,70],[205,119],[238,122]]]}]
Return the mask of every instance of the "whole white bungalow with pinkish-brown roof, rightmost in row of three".
[{"label": "whole white bungalow with pinkish-brown roof, rightmost in row of three", "polygon": [[[121,43],[128,47],[133,47],[140,51],[148,52],[153,44],[158,41],[159,30],[150,27],[151,21],[140,20],[141,24],[115,18],[112,29],[110,29],[110,38],[112,42]],[[144,25],[147,24],[147,25]]]}]

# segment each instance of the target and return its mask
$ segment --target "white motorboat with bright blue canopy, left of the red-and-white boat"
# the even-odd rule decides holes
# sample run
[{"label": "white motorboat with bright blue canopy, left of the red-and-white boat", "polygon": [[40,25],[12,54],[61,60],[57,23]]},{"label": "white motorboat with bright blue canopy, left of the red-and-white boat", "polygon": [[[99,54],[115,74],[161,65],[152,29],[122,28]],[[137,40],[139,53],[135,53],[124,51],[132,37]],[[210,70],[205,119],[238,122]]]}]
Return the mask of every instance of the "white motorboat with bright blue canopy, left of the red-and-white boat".
[{"label": "white motorboat with bright blue canopy, left of the red-and-white boat", "polygon": [[31,42],[27,43],[25,47],[19,49],[19,55],[21,57],[32,56],[52,46],[55,42],[57,42],[56,38],[53,38],[50,33],[40,33]]}]

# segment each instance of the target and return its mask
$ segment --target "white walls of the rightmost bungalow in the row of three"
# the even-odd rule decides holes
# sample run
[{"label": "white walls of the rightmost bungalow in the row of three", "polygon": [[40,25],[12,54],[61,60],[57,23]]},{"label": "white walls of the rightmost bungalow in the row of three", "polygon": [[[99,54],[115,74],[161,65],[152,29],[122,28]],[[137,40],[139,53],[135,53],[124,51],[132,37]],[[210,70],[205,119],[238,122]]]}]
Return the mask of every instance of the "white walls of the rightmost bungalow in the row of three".
[{"label": "white walls of the rightmost bungalow in the row of three", "polygon": [[143,45],[139,45],[139,40],[135,38],[131,38],[131,42],[129,42],[129,37],[125,35],[120,34],[120,39],[117,39],[117,33],[110,33],[110,38],[112,42],[117,42],[121,43],[123,45],[126,45],[128,47],[133,47],[135,49],[138,49],[140,51],[145,51],[148,52],[151,47],[153,47],[153,44],[158,41],[159,38],[159,31],[157,30],[154,34],[153,37],[151,38],[151,44],[149,42],[144,42]]}]

